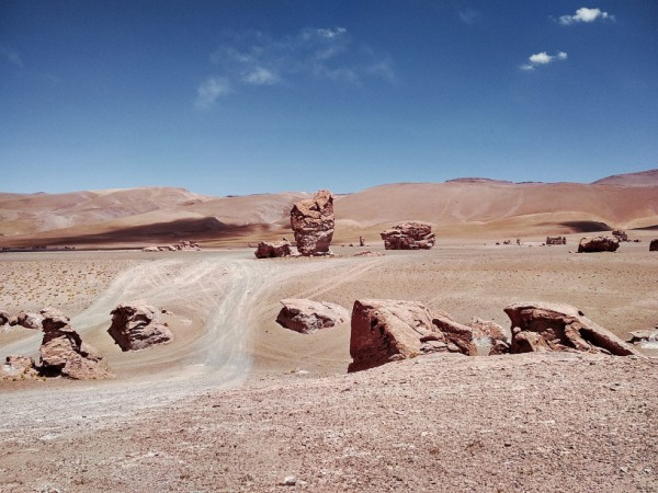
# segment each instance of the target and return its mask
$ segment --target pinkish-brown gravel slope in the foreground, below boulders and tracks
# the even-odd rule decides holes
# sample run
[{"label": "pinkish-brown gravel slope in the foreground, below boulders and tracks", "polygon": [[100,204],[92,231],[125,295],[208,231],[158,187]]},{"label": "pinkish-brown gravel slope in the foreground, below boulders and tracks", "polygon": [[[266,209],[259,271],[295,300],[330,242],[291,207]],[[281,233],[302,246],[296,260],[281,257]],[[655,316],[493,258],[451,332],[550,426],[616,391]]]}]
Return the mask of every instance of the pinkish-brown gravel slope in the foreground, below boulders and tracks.
[{"label": "pinkish-brown gravel slope in the foreground, below boulders and tracks", "polygon": [[569,354],[265,375],[118,426],[3,434],[0,490],[658,491],[657,377]]}]

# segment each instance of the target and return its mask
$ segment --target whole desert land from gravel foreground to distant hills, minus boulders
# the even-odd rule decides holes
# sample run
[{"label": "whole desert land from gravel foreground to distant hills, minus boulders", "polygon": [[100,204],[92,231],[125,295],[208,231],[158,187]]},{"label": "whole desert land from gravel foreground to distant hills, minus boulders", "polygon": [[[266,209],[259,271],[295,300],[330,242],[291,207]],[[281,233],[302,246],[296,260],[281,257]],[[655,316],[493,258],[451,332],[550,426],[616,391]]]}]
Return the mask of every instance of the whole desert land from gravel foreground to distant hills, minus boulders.
[{"label": "whole desert land from gravel foreground to distant hills, minus boulders", "polygon": [[[111,192],[57,207],[61,197],[5,194],[0,308],[61,310],[115,378],[2,380],[0,491],[658,491],[650,346],[646,357],[442,354],[348,374],[349,322],[313,334],[275,322],[285,298],[348,310],[381,298],[509,328],[507,305],[541,300],[626,340],[658,323],[651,183],[475,180],[432,188],[444,203],[429,184],[390,185],[337,199],[334,256],[264,260],[248,245],[286,234],[290,203],[304,194],[237,197],[232,208],[141,191],[132,214],[127,200],[80,206]],[[138,199],[158,194],[166,207]],[[435,246],[385,251],[377,231],[405,219],[432,222]],[[576,253],[608,227],[640,241]],[[131,250],[193,233],[202,251]],[[548,233],[567,244],[543,245]],[[351,246],[361,234],[366,246]],[[366,250],[383,255],[354,256]],[[167,310],[173,342],[135,353],[114,344],[110,311],[137,299]],[[37,358],[41,337],[8,326],[0,357]]]}]

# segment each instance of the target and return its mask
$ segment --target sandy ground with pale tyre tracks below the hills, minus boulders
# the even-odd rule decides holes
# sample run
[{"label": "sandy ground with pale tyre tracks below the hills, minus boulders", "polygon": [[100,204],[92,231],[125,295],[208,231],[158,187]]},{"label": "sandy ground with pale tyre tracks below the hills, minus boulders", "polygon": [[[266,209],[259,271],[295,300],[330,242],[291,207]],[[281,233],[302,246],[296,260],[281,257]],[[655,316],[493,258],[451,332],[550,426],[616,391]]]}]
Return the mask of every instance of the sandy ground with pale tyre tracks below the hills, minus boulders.
[{"label": "sandy ground with pale tyre tracks below the hills, minus boulders", "polygon": [[[25,302],[73,316],[117,378],[1,383],[0,491],[270,491],[284,474],[307,491],[658,491],[655,359],[420,358],[345,375],[348,324],[302,335],[274,322],[290,297],[415,299],[503,325],[508,303],[563,301],[622,336],[658,322],[646,243],[572,249],[2,254]],[[64,270],[97,291],[63,299]],[[1,302],[29,308],[11,289]],[[112,344],[110,310],[136,298],[171,310],[172,344]],[[2,333],[0,356],[38,343]]]}]

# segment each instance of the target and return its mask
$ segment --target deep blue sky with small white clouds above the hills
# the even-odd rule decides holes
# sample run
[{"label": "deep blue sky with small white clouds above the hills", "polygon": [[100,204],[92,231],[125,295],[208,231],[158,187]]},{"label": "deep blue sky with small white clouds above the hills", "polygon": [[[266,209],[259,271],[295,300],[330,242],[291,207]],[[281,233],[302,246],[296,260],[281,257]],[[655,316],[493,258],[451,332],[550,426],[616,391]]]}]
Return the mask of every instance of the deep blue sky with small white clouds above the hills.
[{"label": "deep blue sky with small white clouds above the hills", "polygon": [[0,0],[0,191],[658,168],[658,2]]}]

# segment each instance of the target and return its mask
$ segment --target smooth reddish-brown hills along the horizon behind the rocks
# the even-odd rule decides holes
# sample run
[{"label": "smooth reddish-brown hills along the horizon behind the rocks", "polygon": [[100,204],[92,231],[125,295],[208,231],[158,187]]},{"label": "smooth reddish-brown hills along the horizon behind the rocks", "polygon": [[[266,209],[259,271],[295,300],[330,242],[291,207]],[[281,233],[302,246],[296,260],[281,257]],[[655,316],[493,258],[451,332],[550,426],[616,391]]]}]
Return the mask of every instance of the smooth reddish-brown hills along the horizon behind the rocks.
[{"label": "smooth reddish-brown hills along the horizon behind the rocks", "polygon": [[[0,246],[139,246],[196,239],[232,245],[290,236],[306,193],[209,197],[182,188],[0,194]],[[404,220],[442,238],[541,237],[658,225],[658,170],[593,184],[458,179],[381,185],[336,199],[336,242],[368,240]]]}]

